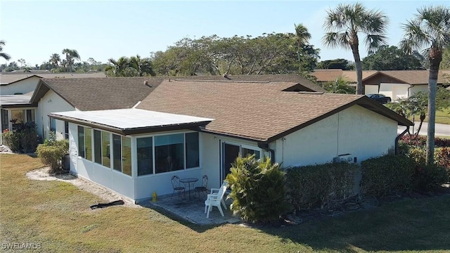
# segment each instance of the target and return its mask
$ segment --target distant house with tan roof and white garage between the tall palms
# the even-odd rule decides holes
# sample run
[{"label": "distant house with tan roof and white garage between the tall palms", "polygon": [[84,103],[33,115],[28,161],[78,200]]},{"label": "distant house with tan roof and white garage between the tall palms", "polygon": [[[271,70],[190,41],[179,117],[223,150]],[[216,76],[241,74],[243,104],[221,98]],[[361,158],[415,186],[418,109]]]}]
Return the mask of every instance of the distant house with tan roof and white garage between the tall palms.
[{"label": "distant house with tan roof and white garage between the tall palms", "polygon": [[[439,70],[437,85],[449,82],[444,74],[450,70]],[[381,93],[392,100],[409,98],[419,91],[428,92],[429,70],[378,71],[363,79],[366,94]]]}]

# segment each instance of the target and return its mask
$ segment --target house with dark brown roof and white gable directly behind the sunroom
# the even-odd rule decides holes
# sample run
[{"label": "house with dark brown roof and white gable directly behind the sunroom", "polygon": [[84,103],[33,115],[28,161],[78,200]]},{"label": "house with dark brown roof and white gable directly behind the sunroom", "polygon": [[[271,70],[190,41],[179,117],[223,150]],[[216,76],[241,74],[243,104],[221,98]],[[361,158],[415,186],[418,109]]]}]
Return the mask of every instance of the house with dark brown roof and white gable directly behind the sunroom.
[{"label": "house with dark brown roof and white gable directly behind the sunroom", "polygon": [[49,131],[68,138],[68,123],[49,118],[49,113],[132,108],[160,82],[162,78],[148,77],[41,79],[30,100],[37,104],[37,132],[42,138]]}]

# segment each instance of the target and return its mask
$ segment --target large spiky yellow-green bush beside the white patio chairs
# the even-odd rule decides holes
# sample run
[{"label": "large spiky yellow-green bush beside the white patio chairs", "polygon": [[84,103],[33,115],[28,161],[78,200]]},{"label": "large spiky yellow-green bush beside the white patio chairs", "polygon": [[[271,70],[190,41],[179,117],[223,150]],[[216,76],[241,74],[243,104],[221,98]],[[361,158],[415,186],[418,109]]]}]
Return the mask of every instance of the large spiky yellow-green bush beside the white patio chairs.
[{"label": "large spiky yellow-green bush beside the white patio chairs", "polygon": [[250,223],[276,223],[288,210],[285,202],[284,172],[269,158],[255,155],[236,158],[226,176],[233,200],[231,210]]}]

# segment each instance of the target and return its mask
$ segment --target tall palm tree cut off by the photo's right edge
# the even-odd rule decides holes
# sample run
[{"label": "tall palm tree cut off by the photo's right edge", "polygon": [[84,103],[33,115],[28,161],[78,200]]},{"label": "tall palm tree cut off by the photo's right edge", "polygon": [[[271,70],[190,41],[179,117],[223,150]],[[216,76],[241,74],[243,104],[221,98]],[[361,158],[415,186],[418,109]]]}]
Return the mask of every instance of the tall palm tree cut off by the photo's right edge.
[{"label": "tall palm tree cut off by the photo's right edge", "polygon": [[433,164],[435,153],[436,89],[442,51],[450,46],[450,8],[428,6],[418,8],[418,13],[402,25],[405,32],[400,46],[406,53],[422,49],[423,56],[430,62],[428,77],[428,131],[427,164]]}]

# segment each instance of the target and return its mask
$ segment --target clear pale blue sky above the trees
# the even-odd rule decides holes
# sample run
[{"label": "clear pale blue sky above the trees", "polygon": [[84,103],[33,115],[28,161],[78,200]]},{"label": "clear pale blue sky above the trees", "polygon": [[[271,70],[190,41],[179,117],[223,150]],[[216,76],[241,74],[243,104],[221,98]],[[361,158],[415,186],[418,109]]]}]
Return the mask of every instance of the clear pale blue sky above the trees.
[{"label": "clear pale blue sky above the trees", "polygon": [[[390,20],[388,44],[397,46],[401,24],[417,8],[450,6],[450,1],[359,1],[383,11]],[[321,49],[321,60],[353,60],[351,51],[321,43],[326,11],[354,1],[11,1],[0,0],[0,39],[11,61],[41,64],[64,48],[78,51],[82,60],[106,63],[121,56],[149,57],[176,41],[217,34],[257,37],[263,33],[295,32],[303,24],[310,44]],[[360,46],[361,58],[367,56]],[[6,63],[3,58],[0,63]]]}]

